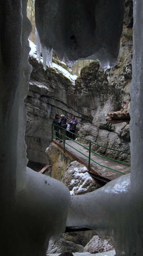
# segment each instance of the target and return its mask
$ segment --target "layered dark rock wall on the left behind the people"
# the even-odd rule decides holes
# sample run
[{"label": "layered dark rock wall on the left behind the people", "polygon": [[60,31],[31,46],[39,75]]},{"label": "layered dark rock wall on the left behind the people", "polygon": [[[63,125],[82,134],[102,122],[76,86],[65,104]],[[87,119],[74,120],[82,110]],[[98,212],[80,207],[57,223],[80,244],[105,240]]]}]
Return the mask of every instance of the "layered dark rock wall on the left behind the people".
[{"label": "layered dark rock wall on the left behind the people", "polygon": [[28,120],[25,131],[27,158],[31,162],[47,164],[45,149],[51,143],[51,122],[55,114],[64,114],[71,118],[74,113],[80,123],[92,122],[88,108],[81,111],[78,107],[75,93],[70,89],[72,82],[54,69],[43,69],[42,63],[29,56],[33,67],[30,77],[29,91],[25,98]]}]

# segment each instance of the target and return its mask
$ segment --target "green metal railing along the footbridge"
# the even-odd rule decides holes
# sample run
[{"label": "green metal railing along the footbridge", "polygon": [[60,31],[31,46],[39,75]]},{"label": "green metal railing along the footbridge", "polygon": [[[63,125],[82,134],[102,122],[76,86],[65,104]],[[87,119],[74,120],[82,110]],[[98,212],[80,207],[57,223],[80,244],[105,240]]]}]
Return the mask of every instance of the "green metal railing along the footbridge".
[{"label": "green metal railing along the footbridge", "polygon": [[[52,125],[52,139],[53,139],[53,137],[55,137],[55,138],[57,138],[58,140],[61,140],[60,138],[58,138],[56,135],[53,134],[53,131],[55,131],[55,132],[57,132],[58,134],[61,134],[61,135],[63,136],[63,140],[61,140],[61,141],[63,141],[63,143],[64,143],[64,153],[65,153],[65,144],[67,144],[68,146],[72,147],[71,145],[69,145],[68,143],[66,143],[65,138],[68,138],[68,139],[70,139],[70,140],[72,140],[72,139],[65,135],[66,129],[61,128],[59,125],[55,125],[55,124],[53,124],[53,123],[52,123],[51,125]],[[59,131],[56,131],[55,129],[53,129],[53,125],[59,127],[59,129],[62,129],[62,130],[63,130],[63,134],[60,133]],[[71,131],[68,131],[68,132],[70,132],[71,134],[73,134]],[[91,158],[91,152],[94,153],[94,154],[96,154],[97,156],[102,157],[102,158],[106,158],[106,159],[109,159],[109,160],[111,160],[111,161],[115,161],[115,162],[117,162],[117,163],[122,163],[122,164],[131,166],[129,163],[125,163],[125,162],[122,162],[122,161],[119,161],[119,160],[115,160],[115,159],[109,158],[109,157],[107,157],[107,156],[101,156],[100,154],[98,154],[98,153],[96,153],[95,151],[91,150],[91,144],[94,144],[94,145],[97,145],[97,146],[99,146],[99,147],[103,147],[103,148],[106,148],[106,149],[111,149],[111,150],[114,150],[114,151],[117,151],[117,152],[126,153],[126,154],[130,155],[129,152],[125,152],[125,151],[118,150],[118,149],[113,149],[113,148],[110,148],[110,147],[101,146],[101,145],[99,145],[99,144],[97,144],[97,143],[95,143],[95,142],[93,142],[93,141],[90,141],[90,140],[88,140],[88,139],[85,139],[85,138],[83,138],[83,137],[81,137],[81,136],[79,136],[79,135],[77,135],[77,134],[76,134],[76,136],[79,137],[79,138],[82,138],[83,140],[86,140],[86,141],[89,142],[89,148],[88,148],[88,147],[83,146],[81,143],[78,143],[77,141],[72,140],[72,141],[74,141],[74,143],[77,143],[78,145],[82,146],[83,148],[85,148],[85,149],[87,149],[87,150],[89,151],[89,155],[86,156],[85,154],[83,154],[82,152],[80,152],[79,150],[77,150],[75,147],[72,147],[72,148],[75,149],[77,152],[79,152],[80,154],[82,154],[83,156],[86,156],[86,157],[88,158],[88,171],[90,171],[90,161],[93,161],[94,163],[98,164],[98,165],[101,166],[101,167],[105,167],[105,168],[107,168],[107,169],[109,169],[109,170],[112,170],[112,171],[115,171],[115,172],[119,172],[119,173],[121,173],[121,174],[126,174],[125,172],[120,172],[120,171],[118,171],[118,170],[112,169],[112,168],[107,167],[107,166],[105,166],[105,165],[101,165],[100,163],[94,161],[94,160]]]}]

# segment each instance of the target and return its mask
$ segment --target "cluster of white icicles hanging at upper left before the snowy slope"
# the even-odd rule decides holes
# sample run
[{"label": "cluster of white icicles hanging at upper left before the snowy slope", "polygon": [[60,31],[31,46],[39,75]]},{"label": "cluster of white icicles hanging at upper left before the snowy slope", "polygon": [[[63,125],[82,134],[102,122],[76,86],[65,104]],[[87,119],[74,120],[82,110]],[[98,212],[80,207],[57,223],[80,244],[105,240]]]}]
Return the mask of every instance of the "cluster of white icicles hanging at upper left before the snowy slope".
[{"label": "cluster of white icicles hanging at upper left before the snowy slope", "polygon": [[38,60],[38,62],[41,61],[41,52],[42,52],[43,68],[44,70],[46,70],[47,68],[46,66],[52,67],[53,49],[48,49],[47,47],[47,51],[45,51],[45,49],[41,46],[37,29],[36,29],[36,41],[37,41],[37,45],[36,45],[37,58],[36,59]]}]

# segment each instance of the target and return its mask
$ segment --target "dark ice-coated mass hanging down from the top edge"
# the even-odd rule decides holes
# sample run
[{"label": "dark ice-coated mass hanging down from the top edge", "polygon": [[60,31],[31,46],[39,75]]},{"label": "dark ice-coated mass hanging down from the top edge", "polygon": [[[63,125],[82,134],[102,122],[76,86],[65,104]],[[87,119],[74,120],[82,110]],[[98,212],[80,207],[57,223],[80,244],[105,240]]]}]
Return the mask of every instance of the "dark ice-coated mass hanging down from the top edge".
[{"label": "dark ice-coated mass hanging down from the top edge", "polygon": [[40,41],[48,52],[53,48],[67,61],[93,55],[103,64],[114,63],[122,33],[123,0],[104,0],[102,4],[97,0],[78,4],[76,0],[36,0],[35,13]]}]

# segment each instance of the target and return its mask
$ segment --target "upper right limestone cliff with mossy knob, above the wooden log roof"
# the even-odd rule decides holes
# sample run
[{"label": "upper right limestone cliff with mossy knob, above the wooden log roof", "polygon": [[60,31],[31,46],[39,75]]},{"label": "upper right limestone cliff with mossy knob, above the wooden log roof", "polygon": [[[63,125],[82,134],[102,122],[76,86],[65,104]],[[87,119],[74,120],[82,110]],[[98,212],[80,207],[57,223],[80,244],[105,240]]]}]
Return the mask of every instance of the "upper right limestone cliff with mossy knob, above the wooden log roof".
[{"label": "upper right limestone cliff with mossy knob, above the wooden log roof", "polygon": [[118,111],[129,107],[129,84],[132,77],[132,26],[133,2],[125,1],[125,15],[120,51],[116,66],[102,70],[98,61],[90,63],[81,70],[81,76],[75,82],[79,106],[90,108],[93,124],[107,129],[110,123],[105,122],[107,112]]}]

